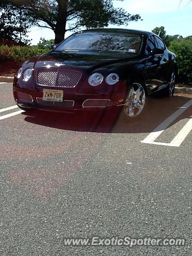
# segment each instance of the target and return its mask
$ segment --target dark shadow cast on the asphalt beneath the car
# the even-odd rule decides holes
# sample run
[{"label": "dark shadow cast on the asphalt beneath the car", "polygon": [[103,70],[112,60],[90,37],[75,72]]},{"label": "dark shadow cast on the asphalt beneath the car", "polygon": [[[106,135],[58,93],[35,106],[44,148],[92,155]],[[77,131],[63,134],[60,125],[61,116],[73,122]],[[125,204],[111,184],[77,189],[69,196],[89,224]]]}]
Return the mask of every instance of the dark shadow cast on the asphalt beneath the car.
[{"label": "dark shadow cast on the asphalt beneath the car", "polygon": [[[145,115],[138,120],[127,120],[123,109],[82,110],[74,113],[55,113],[49,111],[26,111],[25,121],[37,125],[68,131],[100,133],[148,133],[152,132],[166,118],[185,105],[190,98],[149,98]],[[190,117],[190,113],[179,118]],[[185,115],[183,117],[183,115]],[[178,120],[178,119],[177,119]]]}]

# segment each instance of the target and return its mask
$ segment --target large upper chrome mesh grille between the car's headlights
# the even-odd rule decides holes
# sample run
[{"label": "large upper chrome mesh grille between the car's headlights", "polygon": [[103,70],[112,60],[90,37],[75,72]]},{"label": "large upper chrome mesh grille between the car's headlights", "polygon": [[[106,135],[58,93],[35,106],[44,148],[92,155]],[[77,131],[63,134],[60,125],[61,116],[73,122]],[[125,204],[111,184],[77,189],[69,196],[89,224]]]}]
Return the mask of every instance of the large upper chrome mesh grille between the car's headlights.
[{"label": "large upper chrome mesh grille between the car's headlights", "polygon": [[39,69],[36,73],[36,83],[43,86],[75,87],[82,73],[68,69]]}]

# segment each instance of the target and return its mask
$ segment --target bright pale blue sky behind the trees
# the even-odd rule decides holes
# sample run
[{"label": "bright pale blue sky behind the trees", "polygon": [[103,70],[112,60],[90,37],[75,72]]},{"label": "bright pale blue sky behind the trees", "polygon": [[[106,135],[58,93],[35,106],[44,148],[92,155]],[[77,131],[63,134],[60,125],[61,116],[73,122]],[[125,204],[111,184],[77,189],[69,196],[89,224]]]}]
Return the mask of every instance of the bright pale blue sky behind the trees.
[{"label": "bright pale blue sky behind the trees", "polygon": [[[94,0],[93,0],[94,1]],[[113,1],[115,7],[122,7],[131,14],[140,14],[142,21],[132,21],[128,26],[113,26],[109,28],[129,28],[151,31],[155,27],[164,26],[167,35],[192,35],[192,2],[190,0],[124,0]],[[180,5],[179,5],[180,4]],[[71,33],[66,33],[68,37]],[[35,45],[39,39],[54,38],[51,29],[33,27],[29,33],[31,44]]]}]

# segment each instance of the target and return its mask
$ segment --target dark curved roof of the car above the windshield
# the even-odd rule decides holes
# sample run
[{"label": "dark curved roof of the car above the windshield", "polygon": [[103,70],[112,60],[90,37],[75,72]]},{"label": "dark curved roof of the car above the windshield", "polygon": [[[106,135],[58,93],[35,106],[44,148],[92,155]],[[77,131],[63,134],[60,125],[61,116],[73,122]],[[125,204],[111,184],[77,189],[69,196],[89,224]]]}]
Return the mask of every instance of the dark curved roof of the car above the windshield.
[{"label": "dark curved roof of the car above the windshield", "polygon": [[96,28],[96,29],[86,29],[78,31],[77,33],[85,33],[85,32],[105,32],[105,33],[132,33],[132,34],[140,34],[140,35],[155,35],[149,31],[142,31],[136,29],[123,29],[123,28]]}]

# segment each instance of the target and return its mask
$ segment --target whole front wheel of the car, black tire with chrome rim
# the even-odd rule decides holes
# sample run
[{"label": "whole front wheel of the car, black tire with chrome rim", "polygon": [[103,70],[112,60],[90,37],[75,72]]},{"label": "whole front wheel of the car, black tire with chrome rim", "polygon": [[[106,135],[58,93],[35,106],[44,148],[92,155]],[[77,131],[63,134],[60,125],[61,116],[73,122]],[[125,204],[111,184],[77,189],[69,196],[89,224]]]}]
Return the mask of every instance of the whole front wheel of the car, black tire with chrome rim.
[{"label": "whole front wheel of the car, black tire with chrome rim", "polygon": [[[136,94],[135,94],[136,93]],[[141,119],[145,115],[148,99],[146,85],[135,80],[127,91],[127,105],[123,106],[123,115],[129,121]]]}]

